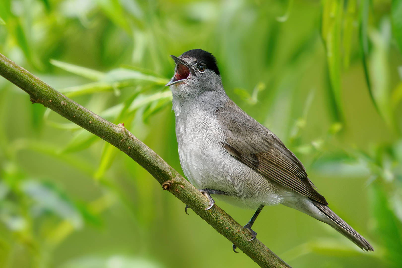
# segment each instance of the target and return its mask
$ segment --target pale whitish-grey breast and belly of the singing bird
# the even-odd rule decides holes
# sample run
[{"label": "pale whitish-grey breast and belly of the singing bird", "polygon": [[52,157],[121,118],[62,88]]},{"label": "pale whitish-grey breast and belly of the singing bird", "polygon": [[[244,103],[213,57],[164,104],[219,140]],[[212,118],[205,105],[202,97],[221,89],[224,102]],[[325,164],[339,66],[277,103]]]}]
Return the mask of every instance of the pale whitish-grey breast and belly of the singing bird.
[{"label": "pale whitish-grey breast and belly of the singing bird", "polygon": [[224,191],[230,196],[213,197],[250,209],[281,203],[279,189],[222,147],[225,134],[212,115],[176,116],[176,136],[183,172],[196,188]]}]

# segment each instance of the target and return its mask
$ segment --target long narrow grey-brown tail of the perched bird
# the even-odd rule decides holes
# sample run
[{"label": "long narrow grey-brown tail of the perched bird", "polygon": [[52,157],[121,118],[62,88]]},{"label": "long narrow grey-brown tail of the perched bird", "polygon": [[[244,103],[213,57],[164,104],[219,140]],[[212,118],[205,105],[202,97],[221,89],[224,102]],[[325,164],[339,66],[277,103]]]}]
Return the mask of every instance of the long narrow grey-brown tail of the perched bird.
[{"label": "long narrow grey-brown tail of the perched bird", "polygon": [[362,250],[374,251],[373,247],[370,245],[369,242],[366,241],[366,239],[364,239],[357,231],[350,227],[349,224],[347,224],[343,219],[338,217],[338,215],[333,213],[332,210],[328,208],[328,206],[321,204],[316,200],[312,201],[314,206],[322,213],[324,213],[324,215],[326,215],[330,219],[330,221],[332,221],[332,224],[329,224],[334,227],[334,229],[345,235]]}]

